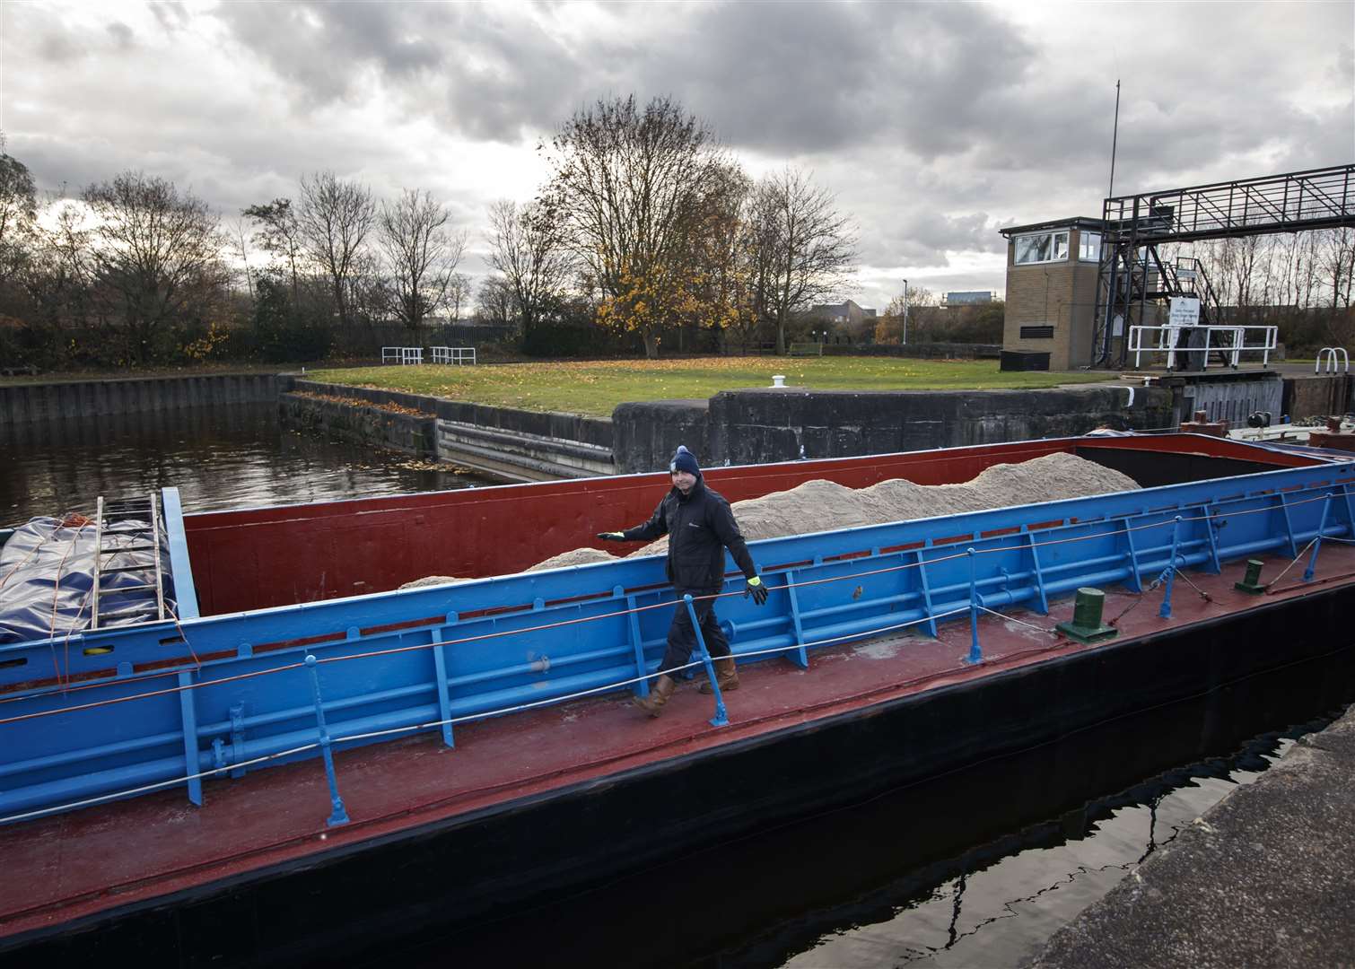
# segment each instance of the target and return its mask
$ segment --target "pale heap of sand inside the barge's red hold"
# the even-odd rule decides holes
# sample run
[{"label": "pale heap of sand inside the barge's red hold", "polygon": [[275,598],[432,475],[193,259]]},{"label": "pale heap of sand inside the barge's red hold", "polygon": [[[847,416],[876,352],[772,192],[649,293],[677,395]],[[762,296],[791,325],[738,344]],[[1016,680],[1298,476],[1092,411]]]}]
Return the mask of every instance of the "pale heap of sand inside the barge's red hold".
[{"label": "pale heap of sand inside the barge's red hold", "polygon": [[[847,488],[832,481],[805,484],[747,501],[734,501],[734,518],[744,538],[804,535],[810,531],[855,529],[863,524],[908,522],[915,518],[958,515],[966,511],[1005,508],[1035,501],[1061,501],[1088,495],[1134,491],[1138,484],[1119,472],[1062,451],[1016,465],[993,465],[973,481],[951,485],[919,485],[904,478],[881,481],[870,488]],[[667,554],[668,537],[650,542],[633,556]],[[600,549],[573,549],[537,562],[526,572],[565,565],[614,561]],[[428,576],[400,588],[469,581],[450,576]]]}]

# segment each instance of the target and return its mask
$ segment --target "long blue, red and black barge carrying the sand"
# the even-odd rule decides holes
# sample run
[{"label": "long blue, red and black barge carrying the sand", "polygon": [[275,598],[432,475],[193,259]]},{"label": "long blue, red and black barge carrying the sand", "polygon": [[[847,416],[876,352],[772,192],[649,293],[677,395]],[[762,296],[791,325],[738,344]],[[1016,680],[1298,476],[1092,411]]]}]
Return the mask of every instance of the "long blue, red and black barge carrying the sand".
[{"label": "long blue, red and black barge carrying the sand", "polygon": [[[0,648],[0,961],[373,957],[1348,649],[1350,455],[1087,436],[706,477],[737,501],[1056,453],[1141,489],[752,542],[771,599],[718,607],[743,687],[659,721],[627,699],[684,607],[663,558],[522,569],[665,474],[201,515],[165,489],[172,615]],[[470,581],[398,590],[435,573]]]}]

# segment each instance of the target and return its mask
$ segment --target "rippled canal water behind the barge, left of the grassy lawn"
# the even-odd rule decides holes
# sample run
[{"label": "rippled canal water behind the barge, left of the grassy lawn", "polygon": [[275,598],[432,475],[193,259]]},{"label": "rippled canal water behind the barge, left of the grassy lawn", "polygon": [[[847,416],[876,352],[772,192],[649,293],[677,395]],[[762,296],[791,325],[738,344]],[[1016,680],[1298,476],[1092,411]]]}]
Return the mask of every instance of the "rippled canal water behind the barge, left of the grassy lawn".
[{"label": "rippled canal water behind the barge, left of the grassy lawn", "polygon": [[408,455],[285,430],[274,404],[0,426],[0,527],[179,488],[186,511],[486,484]]}]

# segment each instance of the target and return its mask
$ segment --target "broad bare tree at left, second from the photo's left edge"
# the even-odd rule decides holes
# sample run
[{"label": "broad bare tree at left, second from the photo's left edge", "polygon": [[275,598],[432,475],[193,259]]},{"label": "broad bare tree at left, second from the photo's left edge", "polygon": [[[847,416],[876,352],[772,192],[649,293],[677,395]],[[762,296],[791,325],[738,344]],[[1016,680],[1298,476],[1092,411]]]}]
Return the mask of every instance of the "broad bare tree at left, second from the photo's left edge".
[{"label": "broad bare tree at left, second from the photo's left edge", "polygon": [[157,332],[221,295],[229,274],[217,217],[191,192],[144,172],[89,186],[83,198],[95,226],[96,298],[129,336],[129,362],[144,362]]}]

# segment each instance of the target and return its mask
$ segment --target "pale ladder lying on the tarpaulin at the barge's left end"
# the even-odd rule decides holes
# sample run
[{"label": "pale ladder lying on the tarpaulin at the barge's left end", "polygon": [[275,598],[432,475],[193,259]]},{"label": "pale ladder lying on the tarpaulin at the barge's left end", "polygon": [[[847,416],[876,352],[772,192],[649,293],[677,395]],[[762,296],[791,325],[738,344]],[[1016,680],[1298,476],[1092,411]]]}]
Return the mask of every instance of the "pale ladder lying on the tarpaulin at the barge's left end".
[{"label": "pale ladder lying on the tarpaulin at the barge's left end", "polygon": [[[160,506],[146,497],[99,499],[89,629],[165,618]],[[130,580],[130,581],[126,581]]]}]

